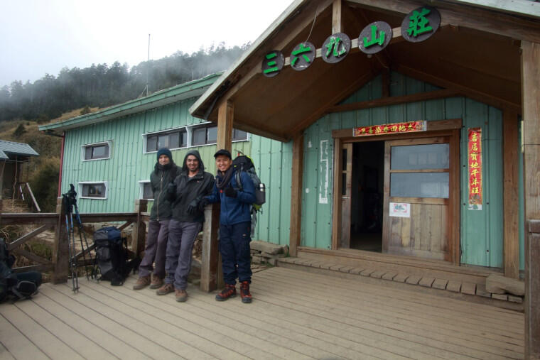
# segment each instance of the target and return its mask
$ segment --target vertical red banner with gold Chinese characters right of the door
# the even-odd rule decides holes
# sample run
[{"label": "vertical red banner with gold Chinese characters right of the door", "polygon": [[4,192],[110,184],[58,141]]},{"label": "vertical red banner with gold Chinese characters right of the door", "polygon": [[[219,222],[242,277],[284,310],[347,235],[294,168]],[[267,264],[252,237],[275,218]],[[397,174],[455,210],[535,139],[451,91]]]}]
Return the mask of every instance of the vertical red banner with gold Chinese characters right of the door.
[{"label": "vertical red banner with gold Chinese characters right of the door", "polygon": [[482,209],[482,129],[469,129],[469,204],[470,210]]}]

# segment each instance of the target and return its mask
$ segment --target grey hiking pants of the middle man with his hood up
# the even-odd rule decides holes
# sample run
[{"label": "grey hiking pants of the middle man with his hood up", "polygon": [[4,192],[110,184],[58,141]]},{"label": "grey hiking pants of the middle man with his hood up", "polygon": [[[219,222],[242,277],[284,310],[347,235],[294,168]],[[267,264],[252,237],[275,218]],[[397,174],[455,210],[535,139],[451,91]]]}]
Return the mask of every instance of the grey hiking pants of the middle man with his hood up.
[{"label": "grey hiking pants of the middle man with his hood up", "polygon": [[200,222],[178,222],[171,219],[169,223],[165,282],[173,284],[176,289],[185,290],[188,286],[191,252],[201,227]]}]

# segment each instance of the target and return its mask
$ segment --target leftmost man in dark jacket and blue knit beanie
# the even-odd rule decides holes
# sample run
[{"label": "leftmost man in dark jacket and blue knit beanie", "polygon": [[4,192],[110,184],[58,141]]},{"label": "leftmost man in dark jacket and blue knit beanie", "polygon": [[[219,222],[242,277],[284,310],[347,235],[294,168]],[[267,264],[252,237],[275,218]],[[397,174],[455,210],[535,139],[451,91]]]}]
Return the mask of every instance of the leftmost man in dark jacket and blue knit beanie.
[{"label": "leftmost man in dark jacket and blue knit beanie", "polygon": [[[153,206],[148,222],[148,236],[144,258],[139,265],[139,279],[133,285],[134,290],[141,290],[150,285],[151,289],[160,288],[165,278],[165,258],[168,240],[168,225],[171,220],[171,201],[167,196],[168,184],[178,175],[178,166],[168,148],[161,148],[158,161],[150,174],[153,192]],[[152,264],[155,262],[155,267]],[[153,271],[153,277],[151,273]]]}]

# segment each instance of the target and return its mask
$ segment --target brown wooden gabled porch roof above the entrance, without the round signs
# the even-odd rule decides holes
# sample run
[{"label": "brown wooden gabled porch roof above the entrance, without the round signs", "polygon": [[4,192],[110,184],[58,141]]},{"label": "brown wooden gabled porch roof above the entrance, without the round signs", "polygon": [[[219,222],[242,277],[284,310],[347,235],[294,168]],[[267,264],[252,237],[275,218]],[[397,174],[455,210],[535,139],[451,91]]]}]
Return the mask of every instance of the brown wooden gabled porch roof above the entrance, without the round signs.
[{"label": "brown wooden gabled porch roof above the entrance, without the round signs", "polygon": [[[234,104],[234,127],[288,141],[325,111],[380,72],[396,70],[494,107],[521,109],[520,40],[540,42],[540,4],[513,0],[342,0],[342,32],[355,40],[373,21],[394,29],[422,5],[435,6],[442,26],[422,43],[394,36],[372,57],[355,48],[345,60],[315,58],[302,72],[287,66],[293,48],[306,41],[320,48],[332,33],[333,0],[296,0],[237,62],[193,104],[193,116],[217,121],[217,108]],[[397,33],[398,31],[395,31]],[[399,31],[400,32],[400,31]],[[280,50],[279,75],[261,74],[266,53]]]}]

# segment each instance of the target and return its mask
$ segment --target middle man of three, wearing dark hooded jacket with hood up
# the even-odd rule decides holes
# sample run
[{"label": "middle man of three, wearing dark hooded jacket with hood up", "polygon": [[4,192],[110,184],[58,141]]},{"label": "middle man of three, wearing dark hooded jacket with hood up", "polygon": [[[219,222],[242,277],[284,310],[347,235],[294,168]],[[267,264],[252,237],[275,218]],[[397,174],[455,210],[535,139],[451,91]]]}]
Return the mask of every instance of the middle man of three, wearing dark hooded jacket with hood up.
[{"label": "middle man of three, wearing dark hooded jacket with hood up", "polygon": [[210,194],[214,177],[205,172],[199,152],[185,155],[182,170],[174,182],[168,185],[168,196],[172,202],[173,216],[169,223],[165,284],[157,290],[158,295],[175,292],[176,301],[188,299],[185,291],[191,269],[193,243],[205,221],[202,197]]}]

